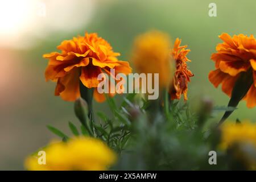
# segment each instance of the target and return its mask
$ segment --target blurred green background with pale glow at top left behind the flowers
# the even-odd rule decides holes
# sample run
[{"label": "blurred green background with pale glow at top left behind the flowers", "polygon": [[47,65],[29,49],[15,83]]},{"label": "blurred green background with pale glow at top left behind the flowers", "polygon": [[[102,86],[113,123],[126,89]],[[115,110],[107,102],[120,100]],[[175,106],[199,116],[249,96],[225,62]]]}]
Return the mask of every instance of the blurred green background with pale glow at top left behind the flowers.
[{"label": "blurred green background with pale glow at top left behind the flowers", "polygon": [[[23,2],[28,5],[31,1]],[[217,17],[208,15],[211,2],[217,4]],[[221,43],[218,35],[222,32],[256,35],[256,2],[253,0],[52,0],[40,3],[45,3],[46,14],[24,24],[23,34],[10,26],[13,34],[5,36],[4,33],[10,31],[0,22],[2,170],[23,169],[23,160],[28,154],[55,138],[46,125],[69,133],[68,121],[79,124],[73,103],[55,97],[55,83],[44,80],[47,60],[42,55],[56,51],[61,41],[84,35],[85,31],[97,32],[112,44],[114,51],[121,53],[121,60],[129,60],[135,36],[152,29],[167,32],[172,40],[179,37],[182,44],[188,44],[191,49],[189,68],[195,73],[188,91],[191,105],[200,97],[208,97],[214,105],[222,106],[229,98],[208,81],[208,73],[214,69],[210,55],[217,43]],[[7,16],[0,15],[0,20],[6,22]],[[238,108],[232,119],[256,121],[256,108],[247,109],[245,102]],[[94,103],[94,109],[108,112],[105,103]]]}]

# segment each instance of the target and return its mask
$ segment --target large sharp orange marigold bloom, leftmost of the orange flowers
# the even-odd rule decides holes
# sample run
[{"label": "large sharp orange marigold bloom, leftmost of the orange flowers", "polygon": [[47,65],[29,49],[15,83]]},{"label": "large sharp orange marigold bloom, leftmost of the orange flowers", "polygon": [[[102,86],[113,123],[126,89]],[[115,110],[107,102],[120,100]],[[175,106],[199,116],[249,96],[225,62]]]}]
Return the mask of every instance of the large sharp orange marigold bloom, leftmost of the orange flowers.
[{"label": "large sharp orange marigold bloom, leftmost of the orange flowers", "polygon": [[[127,61],[120,61],[112,47],[105,39],[96,33],[74,37],[64,40],[57,49],[61,51],[43,55],[49,59],[46,68],[46,80],[57,81],[55,96],[60,96],[65,101],[75,101],[80,97],[80,81],[86,88],[97,88],[97,76],[105,72],[110,74],[111,68],[115,73],[131,72]],[[104,94],[94,89],[96,101],[104,101]]]}]

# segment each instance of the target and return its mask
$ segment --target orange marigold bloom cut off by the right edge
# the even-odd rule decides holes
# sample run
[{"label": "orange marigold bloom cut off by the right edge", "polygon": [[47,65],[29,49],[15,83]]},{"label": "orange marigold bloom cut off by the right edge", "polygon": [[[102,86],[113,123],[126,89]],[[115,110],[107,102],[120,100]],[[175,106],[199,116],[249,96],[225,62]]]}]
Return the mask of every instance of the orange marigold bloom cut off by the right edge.
[{"label": "orange marigold bloom cut off by the right edge", "polygon": [[233,38],[224,33],[219,36],[224,43],[218,44],[216,53],[211,59],[215,62],[216,69],[209,73],[209,80],[217,88],[222,84],[222,91],[229,97],[234,84],[241,72],[253,72],[254,84],[243,100],[247,107],[256,106],[256,40],[253,35],[234,35]]}]

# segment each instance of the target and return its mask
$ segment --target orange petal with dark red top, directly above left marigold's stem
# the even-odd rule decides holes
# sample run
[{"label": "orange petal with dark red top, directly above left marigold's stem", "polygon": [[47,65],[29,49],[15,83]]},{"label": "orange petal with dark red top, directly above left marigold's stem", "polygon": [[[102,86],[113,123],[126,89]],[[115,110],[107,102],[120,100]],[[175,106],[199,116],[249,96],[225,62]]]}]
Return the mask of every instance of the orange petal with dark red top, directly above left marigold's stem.
[{"label": "orange petal with dark red top, directly above left marigold's stem", "polygon": [[94,67],[92,65],[82,67],[80,80],[87,88],[95,88],[98,86],[99,81],[97,77],[100,73],[102,73],[100,67]]}]

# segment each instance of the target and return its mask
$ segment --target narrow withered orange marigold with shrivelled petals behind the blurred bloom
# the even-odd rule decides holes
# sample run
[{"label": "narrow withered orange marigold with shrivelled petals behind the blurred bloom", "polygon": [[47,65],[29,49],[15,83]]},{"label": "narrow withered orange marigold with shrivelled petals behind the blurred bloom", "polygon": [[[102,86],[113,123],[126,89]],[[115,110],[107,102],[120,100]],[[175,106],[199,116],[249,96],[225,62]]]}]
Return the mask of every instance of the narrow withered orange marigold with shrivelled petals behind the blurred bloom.
[{"label": "narrow withered orange marigold with shrivelled petals behind the blurred bloom", "polygon": [[174,43],[174,48],[172,49],[172,57],[174,57],[176,64],[176,71],[174,73],[174,80],[170,86],[169,93],[171,95],[171,100],[180,99],[181,95],[184,95],[184,100],[188,100],[188,82],[190,77],[194,76],[191,71],[189,71],[186,62],[190,62],[187,58],[187,54],[190,51],[187,46],[180,46],[181,40],[177,38]]}]

